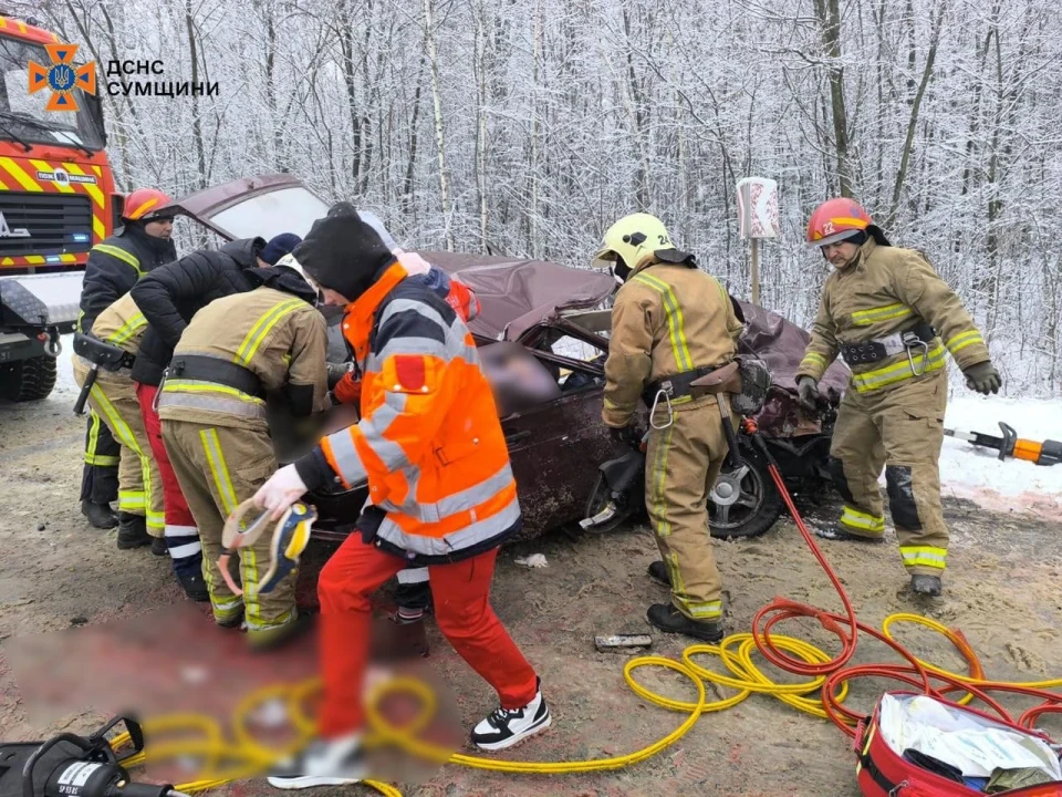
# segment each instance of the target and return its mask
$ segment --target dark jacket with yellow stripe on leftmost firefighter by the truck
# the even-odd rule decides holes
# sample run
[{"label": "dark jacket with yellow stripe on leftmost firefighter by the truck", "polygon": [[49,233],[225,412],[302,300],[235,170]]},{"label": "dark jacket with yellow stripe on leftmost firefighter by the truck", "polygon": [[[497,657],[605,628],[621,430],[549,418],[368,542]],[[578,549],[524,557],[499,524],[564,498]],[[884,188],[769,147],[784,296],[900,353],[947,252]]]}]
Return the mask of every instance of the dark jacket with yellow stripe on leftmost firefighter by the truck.
[{"label": "dark jacket with yellow stripe on leftmost firefighter by the truck", "polygon": [[152,238],[136,225],[126,225],[121,232],[96,244],[85,263],[77,329],[92,330],[96,317],[128,293],[140,277],[176,259],[173,240]]}]

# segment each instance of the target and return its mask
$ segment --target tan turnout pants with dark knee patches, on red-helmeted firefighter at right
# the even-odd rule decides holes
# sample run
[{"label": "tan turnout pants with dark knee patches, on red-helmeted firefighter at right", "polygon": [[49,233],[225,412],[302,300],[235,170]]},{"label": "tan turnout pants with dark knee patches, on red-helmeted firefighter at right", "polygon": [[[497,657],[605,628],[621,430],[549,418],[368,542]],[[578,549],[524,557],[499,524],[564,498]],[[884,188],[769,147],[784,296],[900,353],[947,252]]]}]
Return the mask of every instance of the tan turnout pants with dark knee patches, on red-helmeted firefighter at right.
[{"label": "tan turnout pants with dark knee patches, on red-helmeted firefighter at right", "polygon": [[885,466],[899,555],[912,575],[939,576],[947,563],[939,472],[947,395],[944,369],[881,391],[850,386],[830,448],[831,474],[845,501],[841,525],[848,534],[885,534],[877,486]]}]

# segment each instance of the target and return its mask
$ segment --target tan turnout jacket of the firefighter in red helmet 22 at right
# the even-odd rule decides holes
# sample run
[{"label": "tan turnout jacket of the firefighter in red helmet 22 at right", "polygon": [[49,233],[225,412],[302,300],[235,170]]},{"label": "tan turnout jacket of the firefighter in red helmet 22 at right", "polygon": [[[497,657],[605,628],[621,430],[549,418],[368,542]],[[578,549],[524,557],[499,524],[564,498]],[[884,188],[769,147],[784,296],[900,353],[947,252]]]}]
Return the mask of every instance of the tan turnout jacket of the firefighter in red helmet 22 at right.
[{"label": "tan turnout jacket of the firefighter in red helmet 22 at right", "polygon": [[874,239],[860,247],[855,262],[834,270],[822,289],[796,377],[822,379],[843,344],[864,343],[906,332],[919,323],[936,334],[928,349],[913,349],[874,363],[852,365],[852,384],[860,393],[887,390],[945,366],[950,352],[960,369],[989,359],[985,339],[962,301],[926,257],[914,249],[881,246]]}]

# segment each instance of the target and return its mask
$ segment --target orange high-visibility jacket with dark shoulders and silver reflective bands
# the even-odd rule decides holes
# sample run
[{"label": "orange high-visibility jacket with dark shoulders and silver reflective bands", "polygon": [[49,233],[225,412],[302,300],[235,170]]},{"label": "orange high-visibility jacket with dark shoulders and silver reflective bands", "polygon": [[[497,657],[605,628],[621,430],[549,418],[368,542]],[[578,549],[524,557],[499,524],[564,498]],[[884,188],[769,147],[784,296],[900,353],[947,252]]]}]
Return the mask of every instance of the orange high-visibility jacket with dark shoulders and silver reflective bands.
[{"label": "orange high-visibility jacket with dark shoulders and silver reflective bands", "polygon": [[420,563],[475,556],[516,534],[498,411],[454,308],[396,262],[347,307],[343,334],[362,371],[362,420],[296,463],[308,487],[367,479],[368,504],[386,514],[374,545]]}]

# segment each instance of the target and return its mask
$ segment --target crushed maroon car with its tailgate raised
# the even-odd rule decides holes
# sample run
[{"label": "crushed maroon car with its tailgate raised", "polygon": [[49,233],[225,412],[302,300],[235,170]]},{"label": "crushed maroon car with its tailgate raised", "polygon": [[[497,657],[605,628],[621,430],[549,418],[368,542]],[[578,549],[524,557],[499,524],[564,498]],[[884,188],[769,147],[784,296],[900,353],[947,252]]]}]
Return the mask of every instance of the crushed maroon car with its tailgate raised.
[{"label": "crushed maroon car with its tailgate raised", "polygon": [[[178,214],[202,224],[226,240],[278,231],[305,235],[327,205],[288,174],[243,178],[198,192],[174,203]],[[616,283],[610,275],[569,268],[555,262],[504,256],[420,251],[426,260],[457,276],[480,300],[482,311],[469,323],[496,403],[524,522],[517,539],[532,539],[563,526],[601,515],[617,503],[608,463],[629,454],[612,441],[601,421],[604,401],[604,361],[608,352],[611,297]],[[754,304],[736,301],[746,322],[739,354],[763,362],[771,380],[754,417],[783,476],[794,490],[821,489],[829,484],[826,456],[835,406],[847,382],[847,370],[835,363],[821,390],[831,407],[809,414],[796,403],[795,371],[808,334],[782,317]],[[326,315],[330,356],[346,356],[337,330],[339,315]],[[646,427],[643,410],[641,425]],[[356,410],[337,406],[319,420],[313,433],[295,434],[279,402],[270,404],[270,426],[282,460],[311,446],[317,435],[356,421]],[[636,458],[636,457],[635,457]],[[641,476],[626,473],[623,490],[642,489]],[[732,486],[725,500],[709,498],[711,534],[748,537],[764,532],[783,505],[767,463],[750,441],[739,436],[739,457],[720,482]],[[367,486],[317,491],[306,500],[316,506],[314,537],[340,541],[353,529]],[[716,499],[716,500],[714,500]],[[636,498],[620,501],[602,531],[635,516]],[[583,524],[585,527],[586,524]]]}]

